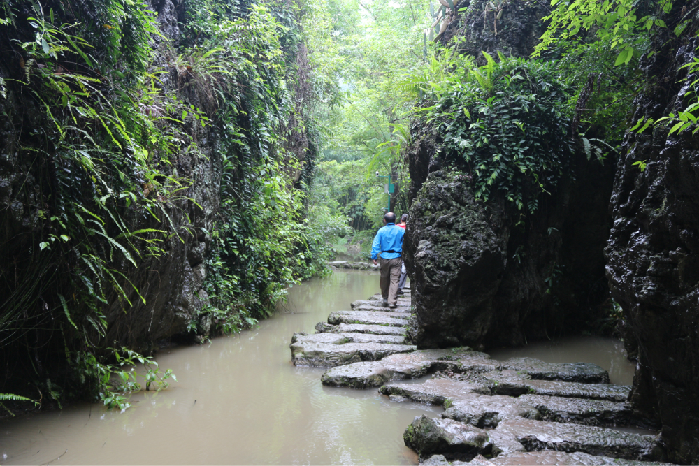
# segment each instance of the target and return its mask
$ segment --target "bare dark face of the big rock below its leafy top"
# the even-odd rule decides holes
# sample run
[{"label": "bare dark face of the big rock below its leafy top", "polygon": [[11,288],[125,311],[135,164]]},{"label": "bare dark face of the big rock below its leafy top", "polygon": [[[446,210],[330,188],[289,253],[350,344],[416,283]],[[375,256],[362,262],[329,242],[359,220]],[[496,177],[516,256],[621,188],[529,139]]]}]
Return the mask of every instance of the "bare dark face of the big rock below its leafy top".
[{"label": "bare dark face of the big rock below its leafy top", "polygon": [[552,196],[542,196],[526,225],[497,194],[476,201],[466,175],[452,168],[428,175],[410,207],[403,246],[413,343],[516,346],[579,332],[601,316],[612,167],[584,156],[575,163],[577,180],[561,180]]}]

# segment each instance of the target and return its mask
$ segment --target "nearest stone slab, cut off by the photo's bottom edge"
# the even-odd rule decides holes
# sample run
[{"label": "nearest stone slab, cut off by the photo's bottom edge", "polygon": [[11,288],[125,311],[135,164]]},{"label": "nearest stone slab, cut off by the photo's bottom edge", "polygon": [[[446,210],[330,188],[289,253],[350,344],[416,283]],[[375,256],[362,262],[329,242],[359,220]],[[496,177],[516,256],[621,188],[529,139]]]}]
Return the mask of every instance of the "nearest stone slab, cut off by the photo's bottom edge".
[{"label": "nearest stone slab, cut off by the photo's bottom edge", "polygon": [[[441,455],[434,455],[429,460],[421,463],[423,465],[431,466],[447,466],[447,460]],[[440,463],[444,459],[445,463]],[[430,462],[431,463],[428,463]],[[461,461],[454,461],[451,463],[452,466],[461,465],[476,465],[476,466],[519,466],[519,465],[582,465],[582,466],[606,466],[606,465],[620,465],[620,466],[630,466],[630,465],[643,465],[643,466],[661,466],[661,465],[671,465],[672,463],[656,463],[656,462],[643,462],[639,463],[634,460],[619,460],[617,458],[609,458],[608,456],[594,456],[587,453],[565,453],[564,451],[528,451],[528,452],[517,452],[517,453],[507,453],[500,454],[495,458],[488,460],[483,456],[476,456],[470,463],[462,463]]]}]

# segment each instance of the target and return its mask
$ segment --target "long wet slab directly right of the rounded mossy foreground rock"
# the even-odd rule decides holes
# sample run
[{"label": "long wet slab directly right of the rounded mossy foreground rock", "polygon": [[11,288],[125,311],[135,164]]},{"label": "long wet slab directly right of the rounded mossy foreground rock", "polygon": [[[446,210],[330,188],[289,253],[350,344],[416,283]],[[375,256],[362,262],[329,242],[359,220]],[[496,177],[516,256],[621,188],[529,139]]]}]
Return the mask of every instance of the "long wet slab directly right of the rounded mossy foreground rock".
[{"label": "long wet slab directly right of the rounded mossy foreground rock", "polygon": [[661,460],[663,457],[657,437],[590,425],[507,418],[498,424],[496,431],[512,435],[527,451],[580,451],[627,460]]}]

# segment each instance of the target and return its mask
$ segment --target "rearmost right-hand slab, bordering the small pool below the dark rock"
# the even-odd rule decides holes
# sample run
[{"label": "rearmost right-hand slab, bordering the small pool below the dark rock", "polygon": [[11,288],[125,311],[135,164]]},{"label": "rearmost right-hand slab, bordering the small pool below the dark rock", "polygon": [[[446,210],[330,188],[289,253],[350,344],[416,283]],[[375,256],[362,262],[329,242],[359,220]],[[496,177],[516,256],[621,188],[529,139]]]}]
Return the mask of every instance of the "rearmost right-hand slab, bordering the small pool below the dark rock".
[{"label": "rearmost right-hand slab, bordering the small pool below the dark rock", "polygon": [[500,363],[498,369],[524,372],[532,379],[582,382],[584,384],[609,384],[610,374],[592,363],[545,363],[533,358],[512,358]]}]

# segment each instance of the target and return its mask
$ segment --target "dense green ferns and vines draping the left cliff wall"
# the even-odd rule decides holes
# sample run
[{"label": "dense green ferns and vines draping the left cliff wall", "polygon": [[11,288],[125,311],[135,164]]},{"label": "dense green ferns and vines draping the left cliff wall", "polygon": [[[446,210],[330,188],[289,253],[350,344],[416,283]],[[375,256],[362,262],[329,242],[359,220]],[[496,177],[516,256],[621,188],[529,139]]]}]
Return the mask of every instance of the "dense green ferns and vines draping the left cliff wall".
[{"label": "dense green ferns and vines draping the left cliff wall", "polygon": [[[305,217],[303,176],[315,150],[289,141],[308,134],[303,113],[329,87],[296,98],[303,36],[295,3],[188,1],[176,49],[143,1],[68,11],[37,4],[31,17],[0,4],[8,33],[0,45],[18,51],[12,63],[21,70],[0,82],[0,95],[10,103],[3,108],[25,99],[33,112],[32,124],[15,125],[16,149],[27,180],[36,180],[19,196],[34,223],[29,255],[13,256],[11,277],[3,271],[0,341],[22,347],[33,332],[53,342],[44,356],[71,367],[64,385],[37,381],[41,367],[27,364],[51,398],[99,392],[124,409],[140,382],[100,361],[147,365],[146,389],[164,387],[171,374],[129,349],[110,353],[104,309],[145,303],[130,274],[201,234],[185,211],[201,206],[189,198],[193,179],[178,173],[180,155],[222,173],[221,208],[206,232],[209,299],[201,296],[205,307],[190,328],[205,331],[199,324],[209,318],[219,331],[254,325],[287,284],[326,273],[324,233]],[[211,130],[209,159],[198,128]]]}]

